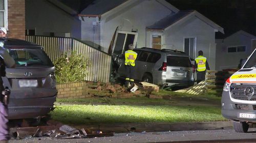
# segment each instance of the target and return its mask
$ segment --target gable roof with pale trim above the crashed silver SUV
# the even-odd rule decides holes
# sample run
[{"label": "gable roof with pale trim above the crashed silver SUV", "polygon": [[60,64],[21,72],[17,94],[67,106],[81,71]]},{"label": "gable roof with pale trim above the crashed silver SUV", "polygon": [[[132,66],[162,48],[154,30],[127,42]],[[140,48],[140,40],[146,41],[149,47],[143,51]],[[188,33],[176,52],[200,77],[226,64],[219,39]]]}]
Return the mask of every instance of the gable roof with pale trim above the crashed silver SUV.
[{"label": "gable roof with pale trim above the crashed silver SUV", "polygon": [[179,11],[174,15],[168,15],[165,18],[156,22],[155,24],[148,26],[147,29],[148,30],[167,30],[168,28],[173,27],[174,25],[188,19],[191,16],[195,16],[199,18],[200,20],[204,21],[206,24],[213,27],[216,31],[219,31],[224,34],[224,30],[221,26],[219,26],[218,24],[206,18],[205,16],[203,16],[202,14],[200,14],[195,10]]}]

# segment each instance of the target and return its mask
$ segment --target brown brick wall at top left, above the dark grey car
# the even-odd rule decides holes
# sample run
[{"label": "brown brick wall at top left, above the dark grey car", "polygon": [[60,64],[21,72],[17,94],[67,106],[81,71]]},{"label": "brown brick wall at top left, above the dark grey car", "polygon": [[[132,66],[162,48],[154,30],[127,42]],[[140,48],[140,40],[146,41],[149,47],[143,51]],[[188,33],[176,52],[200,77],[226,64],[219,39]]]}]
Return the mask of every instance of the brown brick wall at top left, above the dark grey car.
[{"label": "brown brick wall at top left, above the dark grey car", "polygon": [[9,38],[25,40],[25,0],[8,0]]}]

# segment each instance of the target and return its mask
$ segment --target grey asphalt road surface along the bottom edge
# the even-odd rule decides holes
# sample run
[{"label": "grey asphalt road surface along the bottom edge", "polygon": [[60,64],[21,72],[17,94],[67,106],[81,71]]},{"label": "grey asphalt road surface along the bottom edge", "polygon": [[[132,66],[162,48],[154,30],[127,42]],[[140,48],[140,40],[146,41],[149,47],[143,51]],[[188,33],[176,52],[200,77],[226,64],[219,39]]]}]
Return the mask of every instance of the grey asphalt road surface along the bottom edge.
[{"label": "grey asphalt road surface along the bottom edge", "polygon": [[131,132],[116,133],[111,137],[55,139],[50,137],[26,137],[11,142],[256,142],[256,128],[248,133],[236,133],[232,129],[201,131]]}]

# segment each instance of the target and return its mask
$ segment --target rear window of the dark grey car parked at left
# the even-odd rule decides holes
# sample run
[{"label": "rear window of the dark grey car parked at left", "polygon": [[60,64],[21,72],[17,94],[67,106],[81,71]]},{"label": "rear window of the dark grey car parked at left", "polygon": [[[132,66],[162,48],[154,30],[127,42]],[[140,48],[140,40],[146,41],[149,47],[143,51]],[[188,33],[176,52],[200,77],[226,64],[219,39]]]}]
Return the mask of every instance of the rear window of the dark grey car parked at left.
[{"label": "rear window of the dark grey car parked at left", "polygon": [[47,54],[41,49],[9,48],[16,67],[53,67]]}]

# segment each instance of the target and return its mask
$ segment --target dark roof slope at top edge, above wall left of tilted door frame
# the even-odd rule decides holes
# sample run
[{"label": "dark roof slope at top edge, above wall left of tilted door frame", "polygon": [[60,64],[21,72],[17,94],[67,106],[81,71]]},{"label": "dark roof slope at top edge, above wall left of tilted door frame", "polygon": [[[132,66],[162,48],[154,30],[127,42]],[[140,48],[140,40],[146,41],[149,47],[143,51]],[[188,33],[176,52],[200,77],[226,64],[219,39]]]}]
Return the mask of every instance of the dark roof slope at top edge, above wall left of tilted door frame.
[{"label": "dark roof slope at top edge, above wall left of tilted door frame", "polygon": [[79,15],[100,16],[129,0],[95,0],[91,5],[82,10]]}]

